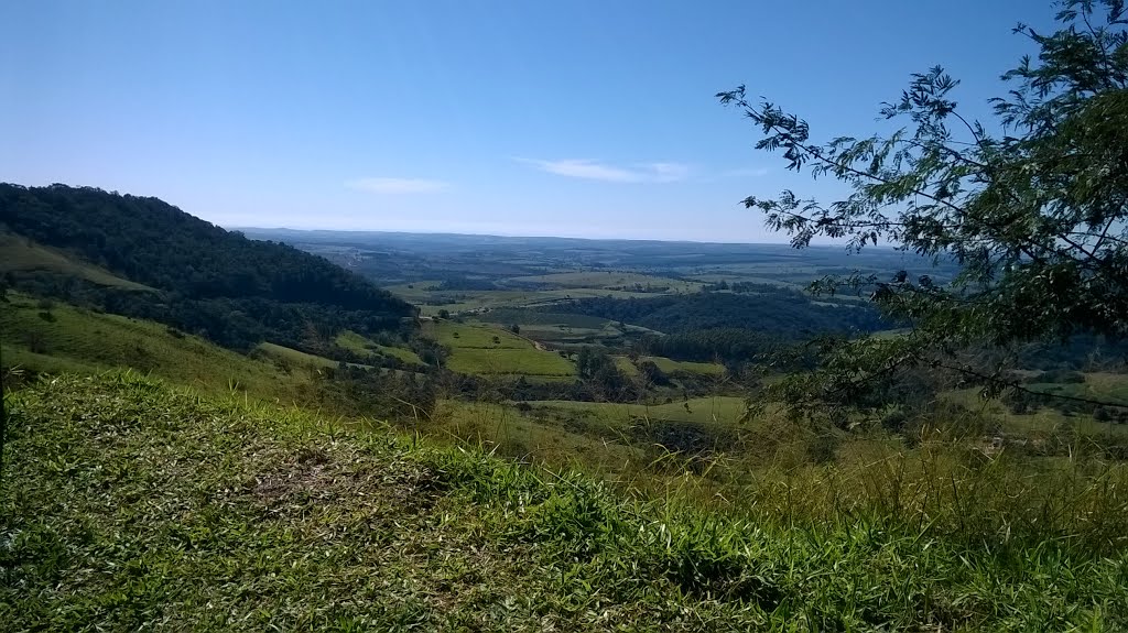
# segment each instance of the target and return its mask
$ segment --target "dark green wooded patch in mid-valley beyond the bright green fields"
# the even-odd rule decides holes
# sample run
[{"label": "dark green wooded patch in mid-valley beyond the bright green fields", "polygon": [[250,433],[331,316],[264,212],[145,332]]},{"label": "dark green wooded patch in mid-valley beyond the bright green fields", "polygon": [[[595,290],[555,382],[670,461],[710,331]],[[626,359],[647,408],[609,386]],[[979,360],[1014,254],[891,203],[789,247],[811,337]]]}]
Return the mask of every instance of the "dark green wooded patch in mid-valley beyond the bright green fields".
[{"label": "dark green wooded patch in mid-valley beyond the bright green fields", "polygon": [[671,335],[739,329],[800,339],[890,327],[870,305],[825,305],[802,293],[768,285],[755,295],[704,292],[653,298],[592,297],[544,310],[600,316]]}]

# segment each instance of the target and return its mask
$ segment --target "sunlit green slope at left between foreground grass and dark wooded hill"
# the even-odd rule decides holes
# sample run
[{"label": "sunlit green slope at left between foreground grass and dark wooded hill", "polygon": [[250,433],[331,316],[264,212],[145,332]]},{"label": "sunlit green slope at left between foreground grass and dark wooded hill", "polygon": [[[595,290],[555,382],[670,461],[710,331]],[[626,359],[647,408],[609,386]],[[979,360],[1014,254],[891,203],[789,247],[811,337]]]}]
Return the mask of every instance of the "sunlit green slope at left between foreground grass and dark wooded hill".
[{"label": "sunlit green slope at left between foreground grass and dark wooded hill", "polygon": [[[44,319],[41,314],[50,314]],[[262,398],[292,400],[309,382],[302,372],[285,374],[273,363],[255,360],[167,327],[65,304],[50,310],[35,298],[9,293],[0,303],[3,363],[35,372],[94,373],[118,367],[152,372],[208,392],[232,386]],[[298,390],[297,394],[294,390]]]}]

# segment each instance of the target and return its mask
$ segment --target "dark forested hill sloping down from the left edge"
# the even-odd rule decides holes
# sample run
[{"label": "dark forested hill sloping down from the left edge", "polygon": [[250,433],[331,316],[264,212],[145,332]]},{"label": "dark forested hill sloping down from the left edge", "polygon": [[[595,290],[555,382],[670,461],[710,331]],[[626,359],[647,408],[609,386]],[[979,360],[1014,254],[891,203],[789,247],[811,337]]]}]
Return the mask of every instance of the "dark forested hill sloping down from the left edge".
[{"label": "dark forested hill sloping down from the left edge", "polygon": [[248,240],[152,197],[0,184],[0,231],[9,234],[3,259],[29,262],[6,266],[7,285],[237,349],[263,340],[308,348],[345,329],[396,329],[414,313],[321,257]]}]

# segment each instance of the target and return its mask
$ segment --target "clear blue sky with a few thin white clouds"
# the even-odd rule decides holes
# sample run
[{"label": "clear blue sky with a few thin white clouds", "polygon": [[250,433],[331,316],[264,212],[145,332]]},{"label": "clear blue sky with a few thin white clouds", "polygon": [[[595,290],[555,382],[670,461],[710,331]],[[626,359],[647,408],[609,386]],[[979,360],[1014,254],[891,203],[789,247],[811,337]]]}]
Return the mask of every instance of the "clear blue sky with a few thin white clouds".
[{"label": "clear blue sky with a few thin white clouds", "polygon": [[941,64],[986,116],[1043,0],[12,0],[0,181],[222,226],[778,242],[841,194],[752,148],[747,84],[826,140]]}]

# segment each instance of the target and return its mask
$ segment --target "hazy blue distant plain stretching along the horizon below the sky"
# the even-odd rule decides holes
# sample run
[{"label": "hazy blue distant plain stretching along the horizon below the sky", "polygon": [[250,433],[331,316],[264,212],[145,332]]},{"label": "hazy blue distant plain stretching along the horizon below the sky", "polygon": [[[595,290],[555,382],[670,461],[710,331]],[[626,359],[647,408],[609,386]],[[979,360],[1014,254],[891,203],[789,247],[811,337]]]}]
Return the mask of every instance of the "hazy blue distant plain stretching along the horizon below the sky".
[{"label": "hazy blue distant plain stretching along the horizon below the sky", "polygon": [[[804,288],[826,275],[897,270],[950,280],[955,266],[892,249],[849,252],[845,246],[796,251],[788,244],[716,244],[641,240],[503,238],[425,233],[290,231],[238,229],[249,238],[274,240],[320,255],[381,285],[414,282],[453,286],[477,282],[481,289],[519,286],[606,288],[637,292],[636,284],[690,292],[721,280]],[[611,278],[613,273],[618,273]],[[608,279],[576,276],[606,274]],[[637,277],[624,277],[624,273]],[[569,274],[569,276],[561,276]],[[555,275],[550,277],[545,277]],[[590,282],[590,283],[589,283]],[[493,284],[496,288],[490,288]],[[434,285],[433,283],[431,285]],[[467,288],[469,289],[469,288]],[[553,289],[541,287],[539,289]]]}]

